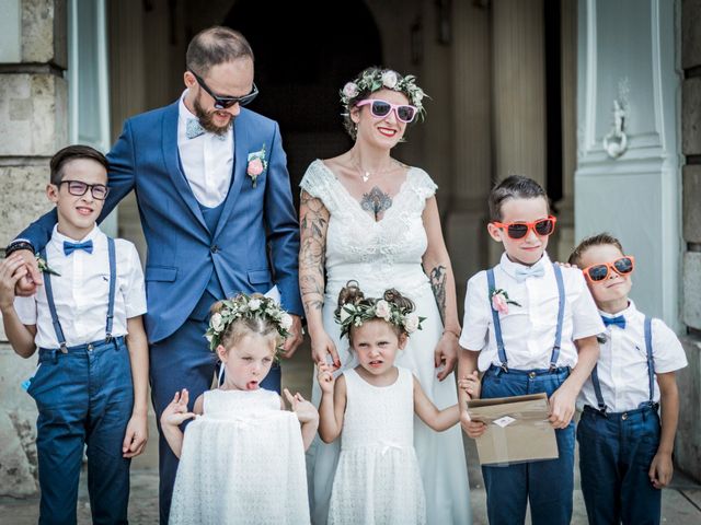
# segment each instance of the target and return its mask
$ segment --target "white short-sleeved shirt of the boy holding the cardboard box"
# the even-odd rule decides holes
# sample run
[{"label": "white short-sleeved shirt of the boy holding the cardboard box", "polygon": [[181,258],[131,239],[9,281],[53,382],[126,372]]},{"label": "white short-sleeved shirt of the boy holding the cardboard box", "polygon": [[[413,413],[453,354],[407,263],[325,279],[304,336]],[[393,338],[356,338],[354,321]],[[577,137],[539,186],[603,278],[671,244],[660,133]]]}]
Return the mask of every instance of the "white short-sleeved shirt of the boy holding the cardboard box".
[{"label": "white short-sleeved shirt of the boy holding the cardboard box", "polygon": [[[494,269],[496,288],[505,290],[512,301],[520,304],[509,304],[508,313],[499,314],[509,369],[537,370],[550,366],[558,326],[558,282],[548,254],[543,254],[538,265],[543,266],[543,276],[529,277],[522,282],[518,282],[515,277],[516,268],[520,265],[509,260],[506,254]],[[561,270],[565,289],[565,311],[558,366],[575,366],[577,349],[573,341],[600,334],[604,331],[604,323],[582,270]],[[468,281],[460,346],[480,351],[480,371],[487,370],[491,364],[502,364],[496,347],[485,270]]]}]

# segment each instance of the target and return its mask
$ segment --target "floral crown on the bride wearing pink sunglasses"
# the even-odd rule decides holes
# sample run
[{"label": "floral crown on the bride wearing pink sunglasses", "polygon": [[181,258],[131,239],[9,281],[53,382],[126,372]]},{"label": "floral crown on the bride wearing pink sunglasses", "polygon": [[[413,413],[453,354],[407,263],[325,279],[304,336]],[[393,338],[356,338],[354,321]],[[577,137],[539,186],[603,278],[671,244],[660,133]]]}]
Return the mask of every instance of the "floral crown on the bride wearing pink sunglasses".
[{"label": "floral crown on the bride wearing pink sunglasses", "polygon": [[410,103],[416,107],[418,115],[422,118],[424,117],[426,110],[424,109],[423,100],[428,95],[416,85],[416,77],[413,74],[402,77],[391,69],[369,68],[363,71],[357,79],[343,86],[343,90],[341,90],[341,103],[345,106],[346,113],[348,113],[360,93],[364,91],[375,93],[381,89],[404,93]]}]

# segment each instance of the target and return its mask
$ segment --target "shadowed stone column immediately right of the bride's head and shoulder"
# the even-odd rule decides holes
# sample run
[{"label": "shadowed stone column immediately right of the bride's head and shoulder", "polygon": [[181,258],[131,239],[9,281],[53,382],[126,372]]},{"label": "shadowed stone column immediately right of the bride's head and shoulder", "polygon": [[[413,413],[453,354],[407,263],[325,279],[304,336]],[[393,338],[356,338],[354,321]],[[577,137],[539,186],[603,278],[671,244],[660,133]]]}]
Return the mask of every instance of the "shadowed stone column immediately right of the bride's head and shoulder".
[{"label": "shadowed stone column immediately right of the bride's head and shoulder", "polygon": [[486,197],[492,175],[490,10],[452,2],[452,137],[455,175],[444,224],[458,288],[486,265]]}]

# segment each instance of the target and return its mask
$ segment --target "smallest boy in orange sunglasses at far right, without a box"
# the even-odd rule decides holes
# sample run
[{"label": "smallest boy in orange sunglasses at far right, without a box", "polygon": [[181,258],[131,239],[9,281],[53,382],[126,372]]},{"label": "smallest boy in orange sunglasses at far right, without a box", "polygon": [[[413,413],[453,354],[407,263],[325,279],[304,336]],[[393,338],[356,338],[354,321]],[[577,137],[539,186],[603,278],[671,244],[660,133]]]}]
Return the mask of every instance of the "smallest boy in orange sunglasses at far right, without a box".
[{"label": "smallest boy in orange sunglasses at far right, without a box", "polygon": [[635,259],[616,237],[585,238],[570,262],[584,268],[606,325],[599,360],[577,400],[584,407],[577,441],[589,523],[659,523],[659,489],[673,474],[675,372],[687,365],[683,348],[662,319],[628,298]]}]

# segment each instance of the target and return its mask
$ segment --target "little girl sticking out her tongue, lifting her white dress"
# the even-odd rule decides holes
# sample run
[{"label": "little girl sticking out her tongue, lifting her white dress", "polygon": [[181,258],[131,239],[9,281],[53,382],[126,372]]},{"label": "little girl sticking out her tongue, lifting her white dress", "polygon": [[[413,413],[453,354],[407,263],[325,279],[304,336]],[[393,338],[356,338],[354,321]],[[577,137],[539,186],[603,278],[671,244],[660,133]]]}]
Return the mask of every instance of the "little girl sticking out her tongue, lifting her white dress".
[{"label": "little girl sticking out her tongue, lifting her white dress", "polygon": [[[304,450],[319,413],[287,389],[292,412],[284,410],[280,396],[260,388],[289,325],[288,314],[260,294],[212,306],[206,337],[223,363],[223,383],[199,396],[194,412],[187,390],[176,393],[161,416],[180,457],[171,524],[309,523]],[[183,435],[180,425],[193,418]]]}]

